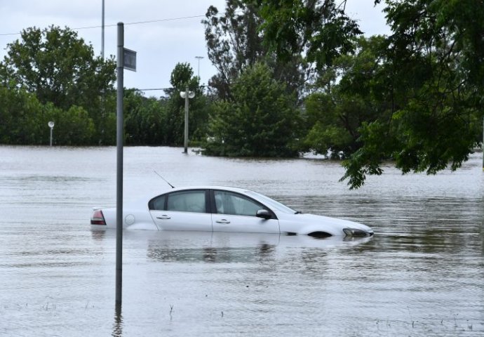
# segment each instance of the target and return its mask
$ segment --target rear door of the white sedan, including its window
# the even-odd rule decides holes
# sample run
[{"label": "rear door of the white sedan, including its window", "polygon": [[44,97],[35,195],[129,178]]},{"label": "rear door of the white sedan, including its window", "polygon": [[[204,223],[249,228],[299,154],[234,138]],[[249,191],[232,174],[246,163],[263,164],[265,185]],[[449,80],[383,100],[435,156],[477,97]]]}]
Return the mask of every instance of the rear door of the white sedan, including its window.
[{"label": "rear door of the white sedan, including its window", "polygon": [[212,232],[207,190],[183,190],[162,194],[149,201],[149,213],[159,230]]}]

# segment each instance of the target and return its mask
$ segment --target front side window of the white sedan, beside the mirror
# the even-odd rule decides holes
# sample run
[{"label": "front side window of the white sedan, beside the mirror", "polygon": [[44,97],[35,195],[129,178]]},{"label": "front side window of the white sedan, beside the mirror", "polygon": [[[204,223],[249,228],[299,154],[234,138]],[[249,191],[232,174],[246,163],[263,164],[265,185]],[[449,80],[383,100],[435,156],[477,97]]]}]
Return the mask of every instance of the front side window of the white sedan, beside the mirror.
[{"label": "front side window of the white sedan, beside the mirror", "polygon": [[259,202],[238,193],[214,191],[213,194],[218,214],[255,216],[260,209],[266,209]]}]

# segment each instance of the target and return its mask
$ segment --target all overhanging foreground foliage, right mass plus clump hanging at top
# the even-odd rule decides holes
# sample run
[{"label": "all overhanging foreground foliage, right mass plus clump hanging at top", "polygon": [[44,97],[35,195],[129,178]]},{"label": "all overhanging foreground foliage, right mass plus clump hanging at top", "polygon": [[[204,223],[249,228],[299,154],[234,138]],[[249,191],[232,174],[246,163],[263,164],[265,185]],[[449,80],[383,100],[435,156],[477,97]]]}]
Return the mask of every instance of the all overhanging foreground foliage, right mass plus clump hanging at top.
[{"label": "all overhanging foreground foliage, right mass plus clump hanging at top", "polygon": [[[360,32],[344,13],[344,0],[255,2],[265,19],[260,27],[264,42],[279,58],[302,53],[314,62],[320,76],[326,76],[340,57],[358,52]],[[394,159],[403,173],[436,173],[449,165],[457,169],[482,135],[482,1],[376,0],[375,4],[379,2],[386,4],[392,34],[379,44],[372,61],[376,72],[370,77],[346,72],[330,95],[338,98],[335,110],[350,108],[359,110],[355,117],[361,114],[354,133],[356,146],[344,161],[347,171],[342,179],[348,178],[351,188],[363,185],[367,175],[381,174],[386,159]],[[328,114],[343,116],[329,107]],[[344,136],[341,127],[322,119],[317,127],[307,140],[321,143],[321,150],[328,147],[328,139]]]}]

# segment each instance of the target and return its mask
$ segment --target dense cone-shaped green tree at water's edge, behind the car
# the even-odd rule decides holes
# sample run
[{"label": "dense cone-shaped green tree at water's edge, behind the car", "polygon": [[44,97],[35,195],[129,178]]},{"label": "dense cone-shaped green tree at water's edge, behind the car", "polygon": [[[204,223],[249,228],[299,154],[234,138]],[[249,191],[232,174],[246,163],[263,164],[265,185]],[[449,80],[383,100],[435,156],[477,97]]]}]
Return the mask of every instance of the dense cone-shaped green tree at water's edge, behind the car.
[{"label": "dense cone-shaped green tree at water's edge, behind the car", "polygon": [[234,100],[215,104],[204,153],[236,157],[292,157],[300,129],[295,95],[273,79],[267,65],[255,64],[241,74]]}]

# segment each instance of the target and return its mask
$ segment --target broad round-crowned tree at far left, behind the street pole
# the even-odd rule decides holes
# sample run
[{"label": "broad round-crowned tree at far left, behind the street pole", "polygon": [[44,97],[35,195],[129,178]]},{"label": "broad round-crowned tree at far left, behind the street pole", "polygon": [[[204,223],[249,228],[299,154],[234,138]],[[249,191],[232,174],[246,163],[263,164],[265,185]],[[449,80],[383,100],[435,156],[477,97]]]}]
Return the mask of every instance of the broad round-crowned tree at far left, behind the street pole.
[{"label": "broad round-crowned tree at far left, behind the street pole", "polygon": [[95,57],[72,29],[51,26],[24,29],[21,39],[7,46],[0,63],[0,82],[34,93],[40,103],[62,110],[83,107],[98,126],[97,138],[109,143],[108,114],[114,111],[114,58]]}]

